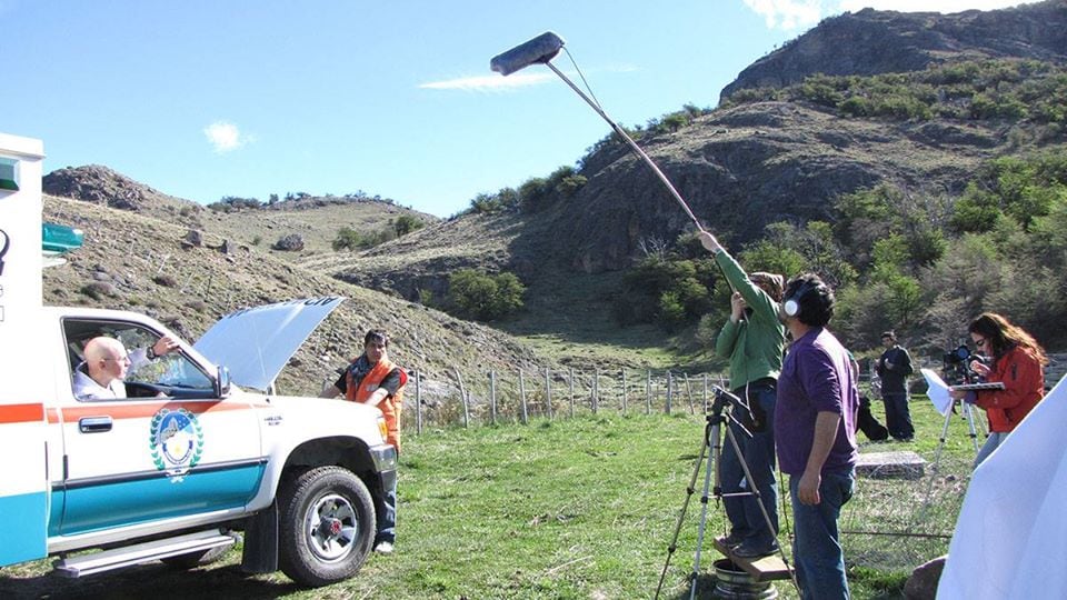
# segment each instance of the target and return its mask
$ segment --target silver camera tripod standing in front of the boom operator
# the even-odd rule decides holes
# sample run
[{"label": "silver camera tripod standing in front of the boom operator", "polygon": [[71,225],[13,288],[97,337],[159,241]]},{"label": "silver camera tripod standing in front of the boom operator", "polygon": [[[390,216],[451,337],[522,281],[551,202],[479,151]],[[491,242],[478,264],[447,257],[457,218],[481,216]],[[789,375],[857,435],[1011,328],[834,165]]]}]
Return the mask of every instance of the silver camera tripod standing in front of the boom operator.
[{"label": "silver camera tripod standing in front of the boom operator", "polygon": [[[686,499],[682,502],[681,510],[678,513],[678,521],[675,523],[675,533],[670,540],[670,544],[667,547],[667,560],[664,563],[664,570],[659,574],[659,584],[656,587],[656,598],[659,598],[659,593],[664,587],[664,579],[667,576],[667,569],[670,567],[670,559],[674,556],[675,551],[678,549],[678,536],[681,532],[681,523],[685,521],[686,512],[689,509],[689,500],[692,498],[692,493],[696,491],[697,477],[700,473],[700,464],[705,462],[705,457],[707,457],[707,462],[705,464],[704,472],[704,493],[700,497],[700,503],[702,504],[700,509],[700,524],[697,528],[697,550],[694,554],[692,560],[692,583],[689,589],[690,600],[695,599],[697,596],[697,586],[699,582],[700,574],[700,552],[704,548],[704,534],[707,529],[708,521],[708,500],[709,491],[712,491],[711,480],[715,479],[714,493],[716,500],[718,501],[721,498],[726,497],[746,497],[755,496],[756,503],[759,506],[760,512],[764,516],[764,522],[767,526],[769,531],[775,532],[777,538],[777,531],[771,526],[770,514],[767,513],[767,507],[764,506],[761,494],[758,487],[752,484],[752,473],[748,469],[748,463],[745,461],[745,454],[741,452],[741,448],[737,442],[737,438],[734,434],[734,428],[726,427],[726,439],[729,440],[730,446],[734,451],[737,453],[738,460],[740,462],[741,469],[745,472],[745,481],[749,482],[749,488],[751,491],[742,491],[735,493],[724,493],[721,486],[721,476],[720,476],[720,462],[721,462],[721,430],[722,424],[734,423],[737,428],[747,437],[752,434],[745,429],[745,426],[741,424],[737,418],[734,417],[732,410],[730,407],[739,407],[741,410],[748,411],[748,407],[741,401],[740,398],[734,396],[732,393],[719,388],[718,386],[714,387],[715,401],[711,403],[711,411],[705,417],[706,424],[704,428],[704,437],[700,441],[700,452],[697,456],[697,462],[692,469],[692,476],[689,479],[689,486],[686,488]],[[710,456],[708,452],[710,450]],[[777,541],[777,540],[776,540]],[[796,574],[794,570],[789,568],[789,561],[786,559],[785,551],[782,550],[782,544],[778,544],[778,553],[781,557],[781,560],[786,563],[786,568],[789,570],[789,577],[792,580],[794,587],[797,588],[799,593],[799,586],[797,584]]]}]

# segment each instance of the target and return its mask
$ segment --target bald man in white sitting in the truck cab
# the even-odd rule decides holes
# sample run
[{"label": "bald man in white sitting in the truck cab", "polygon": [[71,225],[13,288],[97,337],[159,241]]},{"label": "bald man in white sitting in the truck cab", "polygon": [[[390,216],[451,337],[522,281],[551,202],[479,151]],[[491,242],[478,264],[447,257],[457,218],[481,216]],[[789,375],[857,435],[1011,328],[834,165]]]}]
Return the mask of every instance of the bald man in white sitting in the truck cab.
[{"label": "bald man in white sitting in the truck cab", "polygon": [[146,364],[178,349],[178,342],[163,336],[147,350],[127,353],[122,342],[101,336],[86,344],[86,361],[74,370],[74,398],[78,400],[116,400],[126,398],[126,373],[132,364]]}]

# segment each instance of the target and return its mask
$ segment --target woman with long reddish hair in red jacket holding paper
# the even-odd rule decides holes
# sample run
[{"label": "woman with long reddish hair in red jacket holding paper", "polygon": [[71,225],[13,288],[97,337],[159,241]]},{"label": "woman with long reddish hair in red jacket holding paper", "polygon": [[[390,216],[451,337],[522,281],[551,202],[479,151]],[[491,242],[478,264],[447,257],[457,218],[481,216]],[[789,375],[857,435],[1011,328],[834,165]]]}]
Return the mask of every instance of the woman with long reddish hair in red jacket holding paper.
[{"label": "woman with long reddish hair in red jacket holding paper", "polygon": [[1044,398],[1048,358],[1029,333],[996,312],[981,313],[968,331],[978,351],[993,361],[990,367],[975,360],[970,369],[988,383],[1004,384],[978,391],[949,388],[953,398],[985,409],[989,419],[989,439],[975,459],[977,468]]}]

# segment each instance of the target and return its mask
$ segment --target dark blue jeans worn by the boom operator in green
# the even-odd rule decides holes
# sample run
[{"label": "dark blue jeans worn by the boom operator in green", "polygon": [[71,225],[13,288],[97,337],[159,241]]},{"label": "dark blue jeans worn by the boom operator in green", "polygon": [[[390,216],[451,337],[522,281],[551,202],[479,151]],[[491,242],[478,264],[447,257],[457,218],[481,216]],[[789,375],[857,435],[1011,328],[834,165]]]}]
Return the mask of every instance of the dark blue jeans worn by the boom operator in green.
[{"label": "dark blue jeans worn by the boom operator in green", "polygon": [[[745,388],[735,391],[735,396],[745,399]],[[741,461],[738,459],[737,451],[730,440],[722,440],[722,456],[719,461],[719,476],[724,493],[738,493],[752,490],[752,484],[759,490],[764,508],[770,517],[770,524],[774,531],[767,529],[767,519],[759,510],[759,503],[755,496],[725,497],[722,504],[726,508],[726,516],[730,520],[730,533],[744,538],[758,548],[766,548],[775,541],[778,534],[778,481],[775,479],[775,386],[760,383],[748,386],[748,402],[750,406],[758,406],[765,413],[762,417],[764,427],[761,431],[751,431],[752,437],[746,436],[737,423],[730,421],[730,429],[734,431],[734,438],[741,448],[741,456],[745,457],[745,463],[752,473],[752,481],[745,480],[745,470],[741,468]],[[738,420],[745,420],[741,417],[742,410],[734,409],[732,414]],[[758,411],[757,411],[758,412]]]}]

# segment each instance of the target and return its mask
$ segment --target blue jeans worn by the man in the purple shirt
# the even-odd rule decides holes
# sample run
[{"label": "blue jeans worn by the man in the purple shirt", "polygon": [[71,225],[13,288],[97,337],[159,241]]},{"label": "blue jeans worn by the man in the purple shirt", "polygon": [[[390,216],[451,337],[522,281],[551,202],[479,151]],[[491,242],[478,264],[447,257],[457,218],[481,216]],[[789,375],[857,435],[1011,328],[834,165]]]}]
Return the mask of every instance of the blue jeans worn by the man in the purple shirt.
[{"label": "blue jeans worn by the man in the purple shirt", "polygon": [[797,496],[800,476],[789,476],[792,499],[792,560],[797,569],[800,597],[805,600],[834,600],[848,594],[845,553],[839,541],[837,519],[841,507],[852,497],[855,471],[822,473],[818,504],[801,504]]}]

